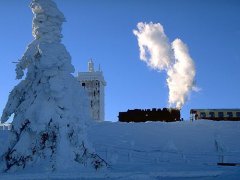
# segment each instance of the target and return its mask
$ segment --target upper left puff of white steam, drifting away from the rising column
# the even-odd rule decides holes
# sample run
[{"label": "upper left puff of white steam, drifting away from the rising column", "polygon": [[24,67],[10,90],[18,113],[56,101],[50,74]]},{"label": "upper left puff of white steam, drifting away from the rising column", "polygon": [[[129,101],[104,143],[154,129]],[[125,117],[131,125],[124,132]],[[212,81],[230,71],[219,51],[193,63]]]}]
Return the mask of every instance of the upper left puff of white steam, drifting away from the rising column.
[{"label": "upper left puff of white steam, drifting away from the rising column", "polygon": [[138,38],[140,59],[151,68],[166,70],[172,64],[171,47],[160,23],[138,23],[133,33]]}]

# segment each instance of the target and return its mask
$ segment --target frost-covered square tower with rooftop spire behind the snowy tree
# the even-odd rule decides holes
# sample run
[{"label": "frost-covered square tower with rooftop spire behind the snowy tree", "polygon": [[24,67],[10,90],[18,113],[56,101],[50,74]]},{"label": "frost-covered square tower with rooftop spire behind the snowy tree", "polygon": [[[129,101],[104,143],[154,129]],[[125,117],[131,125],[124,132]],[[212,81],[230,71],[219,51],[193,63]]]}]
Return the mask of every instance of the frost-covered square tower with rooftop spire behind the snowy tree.
[{"label": "frost-covered square tower with rooftop spire behind the snowy tree", "polygon": [[96,121],[104,121],[104,88],[106,86],[106,82],[100,67],[97,71],[95,71],[94,63],[91,59],[88,62],[88,72],[78,72],[77,79],[87,91],[91,105],[90,113],[92,118]]}]

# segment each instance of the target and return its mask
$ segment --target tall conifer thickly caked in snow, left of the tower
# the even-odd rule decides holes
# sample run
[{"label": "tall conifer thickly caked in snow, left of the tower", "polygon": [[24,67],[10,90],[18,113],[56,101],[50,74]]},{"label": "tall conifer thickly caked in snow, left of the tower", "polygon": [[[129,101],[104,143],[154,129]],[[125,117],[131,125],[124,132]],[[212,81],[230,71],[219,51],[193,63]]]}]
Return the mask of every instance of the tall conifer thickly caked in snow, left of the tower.
[{"label": "tall conifer thickly caked in snow, left of the tower", "polygon": [[64,15],[52,0],[32,0],[34,40],[16,66],[22,80],[9,95],[1,122],[13,114],[3,171],[63,170],[108,166],[86,138],[87,96],[73,77],[71,57],[61,43]]}]

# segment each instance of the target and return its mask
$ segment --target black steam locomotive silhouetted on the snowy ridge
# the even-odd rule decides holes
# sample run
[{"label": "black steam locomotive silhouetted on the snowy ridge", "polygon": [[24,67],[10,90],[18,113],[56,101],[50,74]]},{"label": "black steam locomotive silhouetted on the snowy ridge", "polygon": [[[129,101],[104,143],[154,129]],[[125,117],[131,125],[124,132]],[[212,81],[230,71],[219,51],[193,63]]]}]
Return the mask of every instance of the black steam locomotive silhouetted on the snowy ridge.
[{"label": "black steam locomotive silhouetted on the snowy ridge", "polygon": [[173,108],[163,109],[134,109],[127,112],[119,112],[118,119],[120,122],[146,122],[146,121],[163,121],[174,122],[180,121],[180,110]]}]

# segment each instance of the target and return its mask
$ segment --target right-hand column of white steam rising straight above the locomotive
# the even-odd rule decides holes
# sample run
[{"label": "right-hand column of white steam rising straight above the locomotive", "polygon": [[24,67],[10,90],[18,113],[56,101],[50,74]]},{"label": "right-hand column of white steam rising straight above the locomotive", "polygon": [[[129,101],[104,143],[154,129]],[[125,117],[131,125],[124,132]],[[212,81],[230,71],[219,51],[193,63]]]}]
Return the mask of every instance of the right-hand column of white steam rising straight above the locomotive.
[{"label": "right-hand column of white steam rising straight above the locomotive", "polygon": [[188,48],[180,39],[172,42],[172,49],[175,64],[167,71],[168,103],[180,109],[188,99],[189,92],[193,90],[196,72]]}]

